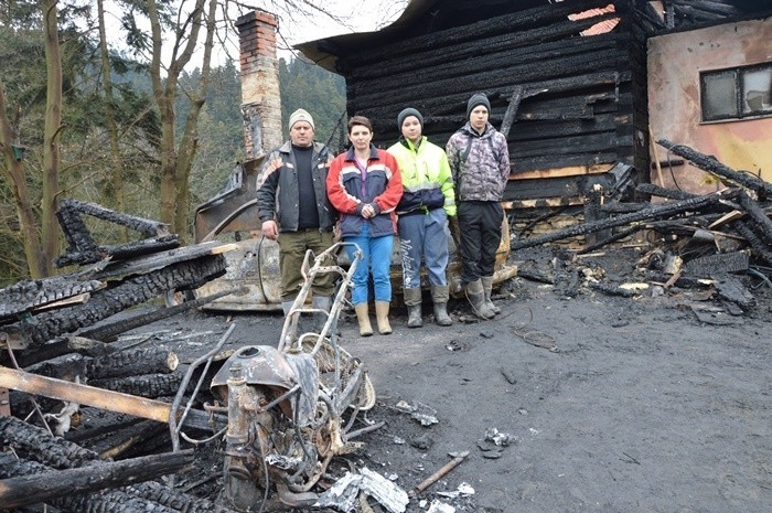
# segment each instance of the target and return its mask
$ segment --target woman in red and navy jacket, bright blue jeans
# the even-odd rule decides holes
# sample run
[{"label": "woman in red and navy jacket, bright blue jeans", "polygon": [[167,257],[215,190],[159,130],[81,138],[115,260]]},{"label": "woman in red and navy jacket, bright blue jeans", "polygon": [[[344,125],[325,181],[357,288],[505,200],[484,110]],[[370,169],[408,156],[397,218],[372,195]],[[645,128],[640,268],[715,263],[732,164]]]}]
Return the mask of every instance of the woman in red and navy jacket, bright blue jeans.
[{"label": "woman in red and navy jacket, bright blue jeans", "polygon": [[[403,195],[403,181],[395,158],[371,143],[373,125],[364,116],[349,120],[351,148],[330,164],[328,197],[340,213],[343,241],[356,244],[361,260],[352,277],[351,302],[360,322],[360,335],[373,328],[367,314],[367,282],[371,272],[375,292],[375,314],[380,334],[392,333],[388,310],[392,301],[392,247],[397,233],[395,209]],[[346,246],[354,260],[355,248]]]}]

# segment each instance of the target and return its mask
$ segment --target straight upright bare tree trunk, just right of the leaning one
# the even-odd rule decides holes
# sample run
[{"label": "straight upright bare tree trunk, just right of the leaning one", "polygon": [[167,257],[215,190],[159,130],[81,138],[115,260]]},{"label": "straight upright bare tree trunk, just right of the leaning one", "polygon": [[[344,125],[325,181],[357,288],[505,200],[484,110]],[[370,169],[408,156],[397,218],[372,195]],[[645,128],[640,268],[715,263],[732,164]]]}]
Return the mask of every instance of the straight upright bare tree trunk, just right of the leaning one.
[{"label": "straight upright bare tree trunk, just right of the leaning one", "polygon": [[51,276],[58,248],[56,203],[58,194],[60,145],[62,129],[62,55],[58,45],[56,1],[43,0],[45,20],[45,67],[47,72],[45,128],[43,135],[43,199],[41,209],[41,249],[43,275]]}]

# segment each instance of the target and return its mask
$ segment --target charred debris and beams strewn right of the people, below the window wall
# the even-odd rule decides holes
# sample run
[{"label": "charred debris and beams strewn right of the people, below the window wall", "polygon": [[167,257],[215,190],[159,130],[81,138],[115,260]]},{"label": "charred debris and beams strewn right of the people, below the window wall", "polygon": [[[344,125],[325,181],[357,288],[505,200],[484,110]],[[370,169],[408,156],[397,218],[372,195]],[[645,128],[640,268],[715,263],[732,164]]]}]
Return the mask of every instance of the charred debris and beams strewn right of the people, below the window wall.
[{"label": "charred debris and beams strewn right of the people, below the window wall", "polygon": [[[754,291],[772,289],[772,183],[687,146],[666,139],[657,142],[717,177],[721,189],[696,195],[642,183],[635,186],[635,194],[651,202],[624,202],[614,200],[613,188],[607,191],[594,184],[583,205],[583,222],[534,235],[538,223],[560,215],[554,210],[525,226],[519,224],[512,236],[513,258],[519,258],[518,249],[553,243],[557,249],[550,261],[519,265],[518,276],[558,286],[568,297],[582,287],[629,298],[698,290],[731,316],[752,313]],[[626,279],[591,264],[593,256],[622,247],[642,252],[630,261]],[[695,310],[697,318],[714,322],[701,314],[704,310]]]}]

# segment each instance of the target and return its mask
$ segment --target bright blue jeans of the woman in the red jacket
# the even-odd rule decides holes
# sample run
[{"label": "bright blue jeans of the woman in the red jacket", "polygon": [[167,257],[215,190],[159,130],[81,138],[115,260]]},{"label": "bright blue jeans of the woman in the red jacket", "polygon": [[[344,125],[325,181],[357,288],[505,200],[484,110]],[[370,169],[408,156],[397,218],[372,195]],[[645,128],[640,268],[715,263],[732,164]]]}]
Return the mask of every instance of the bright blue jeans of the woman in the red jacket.
[{"label": "bright blue jeans of the woman in the red jacket", "polygon": [[[389,268],[392,266],[392,246],[394,246],[394,235],[383,235],[371,237],[367,231],[367,223],[362,224],[362,235],[346,237],[346,243],[354,243],[360,246],[364,259],[356,264],[356,270],[352,276],[353,289],[351,291],[352,304],[367,302],[367,282],[373,274],[373,286],[376,301],[392,300],[392,277]],[[349,258],[354,261],[355,248],[346,246]]]}]

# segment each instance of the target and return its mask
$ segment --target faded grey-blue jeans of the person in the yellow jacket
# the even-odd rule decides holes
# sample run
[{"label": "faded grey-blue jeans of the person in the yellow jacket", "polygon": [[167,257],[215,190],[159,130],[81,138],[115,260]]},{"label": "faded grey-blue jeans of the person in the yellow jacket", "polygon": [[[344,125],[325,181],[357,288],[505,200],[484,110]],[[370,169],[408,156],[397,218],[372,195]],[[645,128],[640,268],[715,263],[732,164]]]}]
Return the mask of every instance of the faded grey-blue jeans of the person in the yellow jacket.
[{"label": "faded grey-blue jeans of the person in the yellow jacket", "polygon": [[429,275],[429,284],[448,285],[448,215],[442,209],[427,214],[399,217],[399,250],[403,256],[403,286],[421,286],[421,259]]}]

